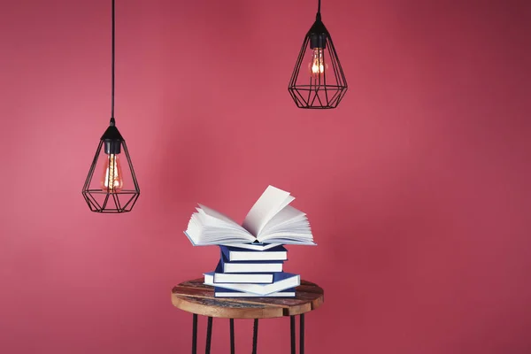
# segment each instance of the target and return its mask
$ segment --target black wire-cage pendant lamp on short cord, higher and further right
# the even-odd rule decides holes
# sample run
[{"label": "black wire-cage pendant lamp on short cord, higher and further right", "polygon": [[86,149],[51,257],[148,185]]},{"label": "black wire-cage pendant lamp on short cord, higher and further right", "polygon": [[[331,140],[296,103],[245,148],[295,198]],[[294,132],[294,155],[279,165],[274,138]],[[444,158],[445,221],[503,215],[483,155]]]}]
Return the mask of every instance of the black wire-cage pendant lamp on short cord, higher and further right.
[{"label": "black wire-cage pendant lamp on short cord, higher and further right", "polygon": [[332,37],[321,21],[320,0],[315,22],[304,37],[289,81],[289,94],[299,108],[335,108],[347,92],[347,81]]}]

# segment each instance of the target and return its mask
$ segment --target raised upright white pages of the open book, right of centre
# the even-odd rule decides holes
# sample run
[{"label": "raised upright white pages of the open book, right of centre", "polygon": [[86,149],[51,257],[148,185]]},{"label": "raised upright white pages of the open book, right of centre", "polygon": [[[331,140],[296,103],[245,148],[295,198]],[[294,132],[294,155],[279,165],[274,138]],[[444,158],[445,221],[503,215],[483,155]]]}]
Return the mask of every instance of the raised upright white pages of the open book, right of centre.
[{"label": "raised upright white pages of the open book, right of centre", "polygon": [[295,197],[289,196],[289,192],[268,186],[262,196],[258,198],[257,203],[250,208],[243,220],[243,227],[252,235],[259,235],[267,222],[294,199]]}]

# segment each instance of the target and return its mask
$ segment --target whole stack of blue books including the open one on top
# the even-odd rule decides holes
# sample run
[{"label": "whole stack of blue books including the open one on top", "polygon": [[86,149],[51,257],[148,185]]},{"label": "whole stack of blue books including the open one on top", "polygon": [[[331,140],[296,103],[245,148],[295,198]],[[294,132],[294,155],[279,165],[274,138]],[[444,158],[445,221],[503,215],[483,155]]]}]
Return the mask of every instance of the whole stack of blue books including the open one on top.
[{"label": "whole stack of blue books including the open one on top", "polygon": [[185,235],[193,245],[219,245],[221,256],[204,283],[217,297],[295,296],[300,275],[283,271],[284,244],[315,245],[306,214],[289,205],[295,197],[269,186],[243,220],[199,204]]}]

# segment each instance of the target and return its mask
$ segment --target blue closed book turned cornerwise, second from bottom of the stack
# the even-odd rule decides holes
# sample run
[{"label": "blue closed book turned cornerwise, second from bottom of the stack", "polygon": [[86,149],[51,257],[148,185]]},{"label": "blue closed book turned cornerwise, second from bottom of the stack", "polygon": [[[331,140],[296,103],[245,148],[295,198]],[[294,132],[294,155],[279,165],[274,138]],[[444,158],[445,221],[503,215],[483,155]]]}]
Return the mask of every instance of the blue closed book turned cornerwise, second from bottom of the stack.
[{"label": "blue closed book turned cornerwise, second from bottom of the stack", "polygon": [[298,274],[274,273],[273,283],[271,284],[218,284],[214,282],[213,273],[204,273],[204,284],[223,289],[252,293],[258,296],[266,296],[268,294],[298,287],[301,284],[301,278]]}]

